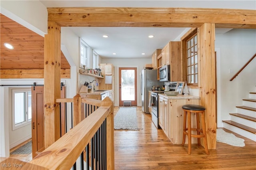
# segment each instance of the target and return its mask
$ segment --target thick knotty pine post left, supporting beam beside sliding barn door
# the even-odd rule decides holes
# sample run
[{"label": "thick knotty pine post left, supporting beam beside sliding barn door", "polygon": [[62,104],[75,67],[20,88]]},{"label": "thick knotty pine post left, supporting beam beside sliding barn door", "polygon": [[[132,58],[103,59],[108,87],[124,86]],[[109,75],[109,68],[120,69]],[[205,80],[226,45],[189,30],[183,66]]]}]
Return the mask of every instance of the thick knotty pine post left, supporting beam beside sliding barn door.
[{"label": "thick knotty pine post left, supporting beam beside sliding barn door", "polygon": [[60,26],[48,22],[44,37],[44,142],[48,148],[60,138]]}]

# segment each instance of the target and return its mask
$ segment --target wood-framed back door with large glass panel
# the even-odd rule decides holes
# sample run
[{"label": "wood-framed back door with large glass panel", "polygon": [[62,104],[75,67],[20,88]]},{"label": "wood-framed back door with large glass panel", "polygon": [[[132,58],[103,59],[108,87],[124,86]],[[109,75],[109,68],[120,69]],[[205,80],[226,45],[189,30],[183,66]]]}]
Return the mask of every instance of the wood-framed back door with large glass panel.
[{"label": "wood-framed back door with large glass panel", "polygon": [[137,68],[119,67],[119,105],[130,101],[132,106],[137,106]]}]

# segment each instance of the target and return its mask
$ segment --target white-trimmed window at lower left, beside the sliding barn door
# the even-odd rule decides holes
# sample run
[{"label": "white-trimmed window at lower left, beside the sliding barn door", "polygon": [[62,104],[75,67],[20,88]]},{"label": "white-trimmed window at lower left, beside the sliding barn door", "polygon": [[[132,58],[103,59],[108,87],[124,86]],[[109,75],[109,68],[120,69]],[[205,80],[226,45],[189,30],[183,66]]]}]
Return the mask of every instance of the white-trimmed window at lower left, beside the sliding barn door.
[{"label": "white-trimmed window at lower left, beside the sliding barn door", "polygon": [[12,89],[12,129],[30,124],[31,118],[31,89]]}]

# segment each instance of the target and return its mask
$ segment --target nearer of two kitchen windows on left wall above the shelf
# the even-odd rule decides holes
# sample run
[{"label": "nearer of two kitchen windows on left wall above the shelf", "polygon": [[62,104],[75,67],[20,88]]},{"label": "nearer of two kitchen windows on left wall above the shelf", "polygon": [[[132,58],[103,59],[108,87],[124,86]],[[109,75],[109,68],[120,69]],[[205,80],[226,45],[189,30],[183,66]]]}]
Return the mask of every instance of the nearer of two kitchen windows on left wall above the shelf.
[{"label": "nearer of two kitchen windows on left wall above the shelf", "polygon": [[87,45],[86,42],[84,42],[84,40],[82,40],[82,38],[80,38],[80,66],[81,68],[84,68],[83,65],[85,65],[85,67],[90,67],[90,47],[89,45]]}]

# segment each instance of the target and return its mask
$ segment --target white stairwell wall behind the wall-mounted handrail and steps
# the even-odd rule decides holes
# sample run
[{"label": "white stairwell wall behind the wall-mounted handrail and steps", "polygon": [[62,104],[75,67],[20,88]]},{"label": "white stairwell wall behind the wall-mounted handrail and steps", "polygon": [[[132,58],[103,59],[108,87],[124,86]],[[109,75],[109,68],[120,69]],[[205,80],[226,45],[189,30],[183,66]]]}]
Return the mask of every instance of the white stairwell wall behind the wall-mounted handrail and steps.
[{"label": "white stairwell wall behind the wall-mounted handrail and steps", "polygon": [[229,113],[235,113],[236,106],[242,105],[242,99],[256,90],[255,58],[230,81],[256,52],[256,30],[233,29],[216,34],[215,47],[220,51],[217,53],[217,127],[223,127],[222,120],[230,120]]}]

